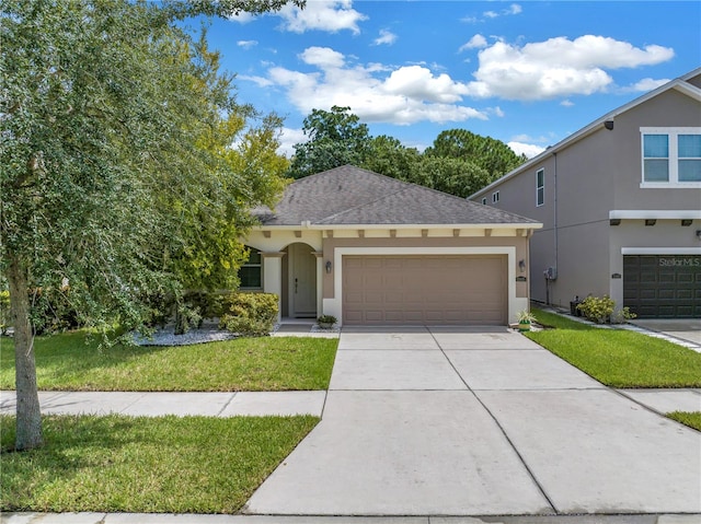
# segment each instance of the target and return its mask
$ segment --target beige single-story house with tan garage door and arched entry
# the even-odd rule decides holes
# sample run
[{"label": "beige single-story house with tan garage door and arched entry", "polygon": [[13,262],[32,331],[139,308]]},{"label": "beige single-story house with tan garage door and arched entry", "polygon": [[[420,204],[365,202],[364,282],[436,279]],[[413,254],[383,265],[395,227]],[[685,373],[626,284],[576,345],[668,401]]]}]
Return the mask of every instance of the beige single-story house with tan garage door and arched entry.
[{"label": "beige single-story house with tan garage door and arched entry", "polygon": [[535,220],[349,165],[255,214],[241,289],[278,294],[283,317],[506,325],[528,307]]}]

